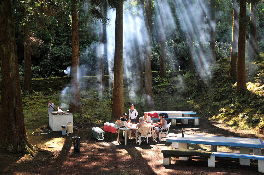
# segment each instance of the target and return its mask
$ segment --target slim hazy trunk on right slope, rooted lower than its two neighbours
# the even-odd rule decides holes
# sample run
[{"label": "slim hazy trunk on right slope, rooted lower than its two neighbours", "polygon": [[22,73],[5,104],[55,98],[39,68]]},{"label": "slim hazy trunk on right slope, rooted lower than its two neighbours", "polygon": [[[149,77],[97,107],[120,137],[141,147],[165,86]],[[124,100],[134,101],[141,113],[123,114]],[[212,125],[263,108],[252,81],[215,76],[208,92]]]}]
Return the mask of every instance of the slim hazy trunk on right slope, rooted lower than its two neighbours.
[{"label": "slim hazy trunk on right slope, rooted lower than its two neighbours", "polygon": [[200,38],[199,38],[199,48],[198,48],[198,69],[197,69],[197,89],[204,88],[204,22],[205,22],[205,12],[204,12],[204,0],[201,1],[201,11],[200,11]]}]

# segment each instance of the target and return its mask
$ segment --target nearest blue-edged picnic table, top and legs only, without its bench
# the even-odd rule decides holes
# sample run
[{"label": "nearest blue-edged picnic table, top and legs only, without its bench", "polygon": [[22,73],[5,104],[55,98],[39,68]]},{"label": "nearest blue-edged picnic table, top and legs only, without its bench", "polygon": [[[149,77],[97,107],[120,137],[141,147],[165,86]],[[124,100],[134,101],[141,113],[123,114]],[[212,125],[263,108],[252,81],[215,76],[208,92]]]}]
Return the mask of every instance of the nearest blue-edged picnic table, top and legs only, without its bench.
[{"label": "nearest blue-edged picnic table, top and legs only, without its bench", "polygon": [[[177,137],[167,137],[166,142],[172,142],[172,148],[189,149],[189,143],[233,146],[239,147],[239,153],[250,154],[250,148],[254,148],[255,155],[261,155],[261,148],[264,148],[262,139],[258,138],[241,138],[241,137],[219,137],[219,136],[200,136],[176,134]],[[179,157],[179,160],[188,160],[189,157]],[[249,159],[239,159],[242,165],[249,165]]]}]

